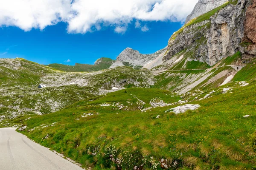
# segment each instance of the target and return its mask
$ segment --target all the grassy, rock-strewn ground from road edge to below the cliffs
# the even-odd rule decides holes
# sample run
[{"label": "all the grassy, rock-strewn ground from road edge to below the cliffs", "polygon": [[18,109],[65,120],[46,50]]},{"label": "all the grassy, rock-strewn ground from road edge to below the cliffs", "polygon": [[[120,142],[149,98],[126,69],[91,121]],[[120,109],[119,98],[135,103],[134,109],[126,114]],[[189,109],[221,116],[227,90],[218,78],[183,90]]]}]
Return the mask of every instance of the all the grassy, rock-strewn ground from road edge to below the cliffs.
[{"label": "all the grassy, rock-strewn ground from road edge to below the cliffs", "polygon": [[[239,57],[236,54],[221,62],[233,64]],[[170,170],[256,168],[253,64],[239,71],[234,82],[219,87],[233,68],[164,71],[154,75],[146,69],[129,67],[70,73],[22,59],[2,63],[0,127],[26,125],[22,133],[30,139],[83,167],[94,170],[120,170],[120,167],[161,170],[164,165]],[[193,61],[187,61],[186,65],[207,67]],[[15,77],[8,80],[12,75]],[[202,77],[206,78],[199,81]],[[197,81],[182,96],[174,93]],[[250,85],[241,87],[241,82],[235,81],[247,81]],[[49,86],[38,89],[39,82]],[[126,89],[105,94],[112,87]],[[226,94],[223,94],[224,87],[230,87]],[[201,99],[212,90],[208,98]],[[201,107],[179,115],[165,113],[180,102]],[[35,111],[54,113],[40,116]],[[243,118],[247,114],[250,116]],[[45,138],[47,134],[49,137]]]}]

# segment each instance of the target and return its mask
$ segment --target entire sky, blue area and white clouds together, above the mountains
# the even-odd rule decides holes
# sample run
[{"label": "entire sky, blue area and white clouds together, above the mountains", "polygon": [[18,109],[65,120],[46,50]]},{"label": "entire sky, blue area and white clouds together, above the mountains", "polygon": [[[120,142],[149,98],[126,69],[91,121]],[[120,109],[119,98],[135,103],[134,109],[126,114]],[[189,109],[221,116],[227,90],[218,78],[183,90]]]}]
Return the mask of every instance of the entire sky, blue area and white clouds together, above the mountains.
[{"label": "entire sky, blue area and white clouds together, above the mountains", "polygon": [[0,58],[74,65],[116,59],[126,47],[151,54],[167,45],[197,1],[6,0]]}]

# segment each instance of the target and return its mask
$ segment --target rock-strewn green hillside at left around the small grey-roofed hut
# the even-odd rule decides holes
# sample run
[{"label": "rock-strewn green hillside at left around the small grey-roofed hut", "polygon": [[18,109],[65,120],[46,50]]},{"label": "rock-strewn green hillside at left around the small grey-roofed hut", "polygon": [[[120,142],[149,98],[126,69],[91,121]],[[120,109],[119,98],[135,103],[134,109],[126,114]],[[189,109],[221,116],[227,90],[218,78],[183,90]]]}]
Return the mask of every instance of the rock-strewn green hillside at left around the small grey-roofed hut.
[{"label": "rock-strewn green hillside at left around the small grey-roofed hut", "polygon": [[[102,61],[97,61],[99,65]],[[38,89],[39,84],[47,88]],[[0,124],[23,114],[52,113],[113,87],[150,87],[153,74],[130,67],[63,72],[25,59],[0,59]],[[5,124],[5,123],[4,123]]]}]

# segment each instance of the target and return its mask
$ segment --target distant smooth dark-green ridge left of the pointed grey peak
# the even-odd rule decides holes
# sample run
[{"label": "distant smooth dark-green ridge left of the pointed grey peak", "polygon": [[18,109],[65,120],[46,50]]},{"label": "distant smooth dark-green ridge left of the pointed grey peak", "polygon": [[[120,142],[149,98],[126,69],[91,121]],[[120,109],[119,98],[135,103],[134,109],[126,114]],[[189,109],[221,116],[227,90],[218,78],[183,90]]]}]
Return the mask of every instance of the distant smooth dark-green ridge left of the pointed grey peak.
[{"label": "distant smooth dark-green ridge left of the pointed grey peak", "polygon": [[79,64],[76,65],[64,65],[64,64],[49,64],[47,66],[51,68],[55,68],[60,71],[68,71],[68,72],[91,72],[91,71],[100,71],[109,68],[115,60],[110,58],[102,57],[100,58],[99,64],[90,65],[90,64]]}]

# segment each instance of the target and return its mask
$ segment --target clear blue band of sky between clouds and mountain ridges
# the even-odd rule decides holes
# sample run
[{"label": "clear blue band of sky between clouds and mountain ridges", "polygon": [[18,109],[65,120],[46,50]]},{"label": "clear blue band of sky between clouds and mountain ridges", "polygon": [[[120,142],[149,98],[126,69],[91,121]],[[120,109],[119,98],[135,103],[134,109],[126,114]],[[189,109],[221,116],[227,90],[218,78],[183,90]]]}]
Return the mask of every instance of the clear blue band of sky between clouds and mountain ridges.
[{"label": "clear blue band of sky between clouds and mountain ridges", "polygon": [[25,32],[14,26],[3,27],[0,28],[0,57],[74,65],[76,62],[93,64],[100,57],[116,59],[126,47],[151,54],[167,45],[181,23],[159,21],[147,25],[146,32],[131,26],[125,34],[114,32],[113,27],[86,34],[68,34],[66,23],[47,26],[42,31],[33,28]]}]

